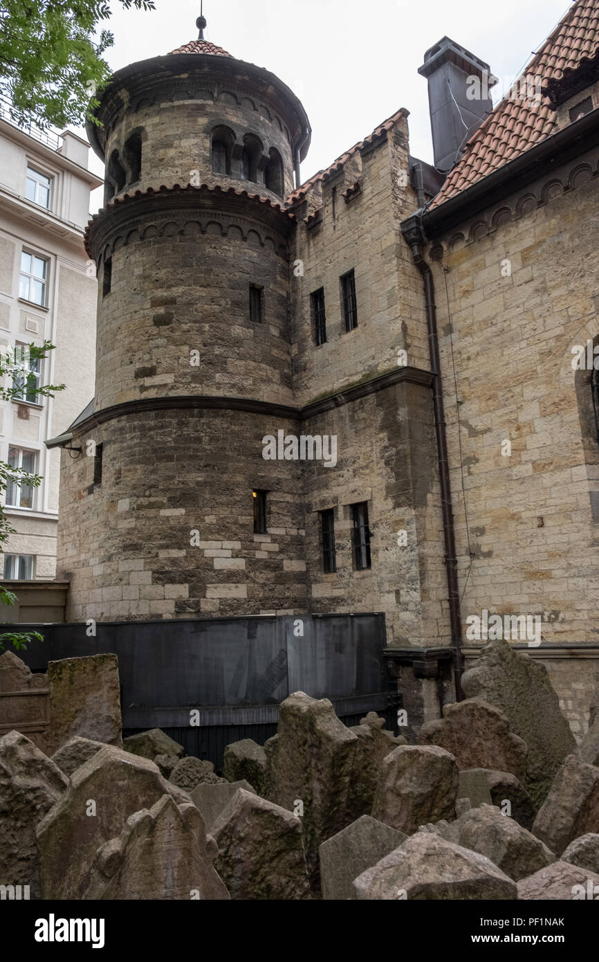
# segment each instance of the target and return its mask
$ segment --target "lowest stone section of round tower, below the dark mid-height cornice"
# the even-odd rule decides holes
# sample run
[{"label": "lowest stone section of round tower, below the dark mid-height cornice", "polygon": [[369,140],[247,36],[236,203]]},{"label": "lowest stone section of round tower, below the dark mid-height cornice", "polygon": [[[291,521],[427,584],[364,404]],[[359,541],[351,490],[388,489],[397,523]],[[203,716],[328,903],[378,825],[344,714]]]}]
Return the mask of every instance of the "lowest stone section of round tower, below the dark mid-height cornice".
[{"label": "lowest stone section of round tower, below the dark mid-height cornice", "polygon": [[[293,421],[276,426],[297,433]],[[78,436],[84,451],[62,475],[67,620],[305,613],[300,471],[262,459],[269,427],[263,416],[183,409]],[[103,443],[101,484],[87,440]],[[253,488],[270,493],[265,535],[254,534]]]}]

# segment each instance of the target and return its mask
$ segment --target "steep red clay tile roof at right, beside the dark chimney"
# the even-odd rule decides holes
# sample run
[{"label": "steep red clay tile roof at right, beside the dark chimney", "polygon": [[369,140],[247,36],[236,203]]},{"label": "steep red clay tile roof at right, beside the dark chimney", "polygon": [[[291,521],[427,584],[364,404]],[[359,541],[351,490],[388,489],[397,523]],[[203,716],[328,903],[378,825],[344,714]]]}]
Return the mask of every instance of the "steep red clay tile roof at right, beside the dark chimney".
[{"label": "steep red clay tile roof at right, beside the dark chimney", "polygon": [[[468,140],[462,160],[447,177],[430,210],[461,193],[499,167],[530,150],[555,130],[555,109],[547,85],[567,80],[572,71],[599,57],[599,0],[577,0],[514,85],[516,91],[541,78],[540,94],[532,97],[508,93]],[[530,78],[530,79],[529,79]],[[534,89],[534,87],[533,87]]]}]

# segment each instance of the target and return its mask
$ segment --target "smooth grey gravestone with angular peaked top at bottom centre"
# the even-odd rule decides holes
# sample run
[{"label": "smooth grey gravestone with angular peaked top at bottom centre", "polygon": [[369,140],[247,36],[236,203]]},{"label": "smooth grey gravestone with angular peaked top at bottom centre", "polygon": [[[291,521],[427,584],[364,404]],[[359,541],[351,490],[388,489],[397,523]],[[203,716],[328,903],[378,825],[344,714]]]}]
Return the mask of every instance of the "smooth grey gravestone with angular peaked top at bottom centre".
[{"label": "smooth grey gravestone with angular peaked top at bottom centre", "polygon": [[326,900],[355,899],[353,881],[398,848],[408,836],[369,815],[343,828],[320,846],[320,884]]}]

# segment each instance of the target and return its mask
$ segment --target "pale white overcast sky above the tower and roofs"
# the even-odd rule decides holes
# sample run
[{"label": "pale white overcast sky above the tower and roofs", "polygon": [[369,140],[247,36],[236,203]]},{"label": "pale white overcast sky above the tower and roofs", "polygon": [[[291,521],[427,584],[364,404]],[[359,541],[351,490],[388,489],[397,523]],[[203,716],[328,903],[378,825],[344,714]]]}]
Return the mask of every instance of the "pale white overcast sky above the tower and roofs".
[{"label": "pale white overcast sky above the tower and roofs", "polygon": [[[155,3],[155,11],[143,13],[112,0],[114,46],[106,59],[113,69],[197,38],[199,0]],[[427,83],[417,72],[425,50],[444,36],[467,47],[500,78],[496,101],[568,6],[567,0],[204,0],[205,37],[271,70],[302,100],[312,124],[306,180],[400,107],[410,111],[411,153],[432,162]],[[90,166],[102,174],[95,157]]]}]

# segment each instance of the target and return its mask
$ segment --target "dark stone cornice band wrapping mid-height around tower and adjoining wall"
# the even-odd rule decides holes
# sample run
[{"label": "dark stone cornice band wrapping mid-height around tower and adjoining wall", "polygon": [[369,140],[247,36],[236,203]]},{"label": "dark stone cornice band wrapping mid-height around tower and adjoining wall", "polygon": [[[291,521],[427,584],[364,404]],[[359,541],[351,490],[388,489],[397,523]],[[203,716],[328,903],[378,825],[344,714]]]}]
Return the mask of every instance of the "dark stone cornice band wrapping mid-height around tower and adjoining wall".
[{"label": "dark stone cornice band wrapping mid-height around tower and adjoining wall", "polygon": [[[269,418],[284,418],[288,420],[304,421],[316,415],[323,414],[344,404],[351,404],[368,394],[385,391],[387,388],[402,382],[431,387],[434,381],[430,371],[419,367],[400,367],[397,371],[382,374],[362,384],[350,387],[346,391],[315,401],[303,408],[287,404],[273,404],[270,401],[260,401],[249,397],[227,397],[211,395],[182,395],[174,397],[143,397],[136,401],[125,401],[114,404],[110,408],[94,411],[85,420],[70,426],[73,435],[85,434],[90,428],[98,427],[115,418],[126,418],[129,415],[143,414],[150,411],[181,411],[195,409],[204,411],[243,411],[248,414],[266,415]],[[50,443],[49,439],[47,443]]]}]

